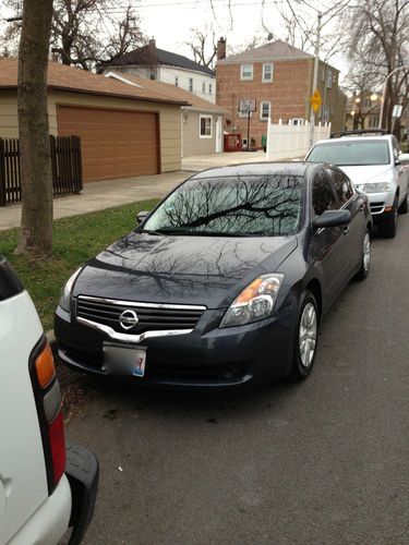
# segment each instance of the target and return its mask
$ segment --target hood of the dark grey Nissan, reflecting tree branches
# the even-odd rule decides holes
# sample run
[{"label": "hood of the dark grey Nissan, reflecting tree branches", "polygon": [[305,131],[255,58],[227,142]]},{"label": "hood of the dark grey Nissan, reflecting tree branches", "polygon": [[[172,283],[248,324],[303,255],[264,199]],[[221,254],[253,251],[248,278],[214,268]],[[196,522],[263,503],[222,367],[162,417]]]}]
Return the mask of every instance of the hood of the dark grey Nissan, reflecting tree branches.
[{"label": "hood of the dark grey Nissan, reflecting tree branches", "polygon": [[72,294],[228,306],[242,287],[273,272],[297,237],[163,237],[132,232],[91,259]]}]

